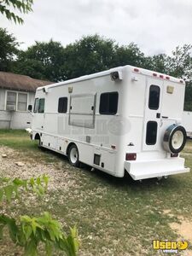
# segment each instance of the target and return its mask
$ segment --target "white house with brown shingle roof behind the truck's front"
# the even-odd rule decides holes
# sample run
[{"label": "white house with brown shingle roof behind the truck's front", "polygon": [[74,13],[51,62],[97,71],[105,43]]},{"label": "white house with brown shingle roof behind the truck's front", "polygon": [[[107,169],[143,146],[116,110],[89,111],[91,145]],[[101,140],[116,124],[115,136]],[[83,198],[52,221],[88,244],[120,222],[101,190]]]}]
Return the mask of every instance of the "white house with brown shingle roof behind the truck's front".
[{"label": "white house with brown shingle roof behind the truck's front", "polygon": [[0,129],[25,129],[31,127],[32,115],[27,112],[33,106],[35,90],[49,81],[28,76],[0,72]]}]

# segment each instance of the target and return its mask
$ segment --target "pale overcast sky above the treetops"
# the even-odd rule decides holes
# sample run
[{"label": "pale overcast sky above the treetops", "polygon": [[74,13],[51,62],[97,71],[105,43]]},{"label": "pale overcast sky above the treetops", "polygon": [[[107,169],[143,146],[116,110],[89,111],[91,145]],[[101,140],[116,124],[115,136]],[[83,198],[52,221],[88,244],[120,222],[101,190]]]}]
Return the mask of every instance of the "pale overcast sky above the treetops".
[{"label": "pale overcast sky above the treetops", "polygon": [[66,45],[95,33],[119,44],[134,42],[146,55],[192,44],[191,0],[34,0],[24,20],[15,26],[0,16],[1,27],[14,33],[23,49],[50,38]]}]

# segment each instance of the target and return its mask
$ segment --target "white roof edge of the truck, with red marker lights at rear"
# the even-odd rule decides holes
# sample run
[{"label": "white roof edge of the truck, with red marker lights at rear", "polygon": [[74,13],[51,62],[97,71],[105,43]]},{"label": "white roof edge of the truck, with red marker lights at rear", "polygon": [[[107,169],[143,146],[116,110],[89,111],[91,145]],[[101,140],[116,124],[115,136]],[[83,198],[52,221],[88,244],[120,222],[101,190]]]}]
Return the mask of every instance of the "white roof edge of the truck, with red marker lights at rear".
[{"label": "white roof edge of the truck, with red marker lights at rear", "polygon": [[122,71],[125,68],[129,69],[132,73],[143,74],[143,75],[147,75],[149,77],[153,77],[155,79],[164,79],[164,80],[172,81],[174,83],[185,84],[183,79],[177,79],[177,78],[174,78],[172,76],[166,75],[165,73],[158,73],[158,72],[151,71],[151,70],[148,70],[148,69],[144,69],[144,68],[141,68],[141,67],[133,67],[133,66],[130,66],[130,65],[126,65],[126,66],[123,66],[123,67],[113,67],[111,69],[108,69],[106,71],[102,71],[102,72],[99,72],[99,73],[92,73],[92,74],[89,74],[89,75],[84,75],[84,76],[81,76],[81,77],[76,78],[76,79],[69,79],[69,80],[66,80],[66,81],[45,85],[45,86],[42,86],[42,87],[38,87],[37,90],[42,90],[43,88],[53,88],[53,87],[57,87],[57,86],[65,85],[65,84],[73,84],[73,83],[88,80],[88,79],[94,79],[94,78],[106,76],[106,75],[108,75],[112,72],[115,72],[115,71]]}]

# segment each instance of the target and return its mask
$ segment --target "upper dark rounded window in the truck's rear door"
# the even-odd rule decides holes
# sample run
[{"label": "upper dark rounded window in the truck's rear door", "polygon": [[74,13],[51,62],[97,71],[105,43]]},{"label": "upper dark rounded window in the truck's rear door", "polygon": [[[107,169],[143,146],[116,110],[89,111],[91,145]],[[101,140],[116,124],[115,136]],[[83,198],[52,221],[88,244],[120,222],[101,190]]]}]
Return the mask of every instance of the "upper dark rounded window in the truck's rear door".
[{"label": "upper dark rounded window in the truck's rear door", "polygon": [[149,89],[148,108],[157,110],[160,106],[160,87],[151,85]]}]

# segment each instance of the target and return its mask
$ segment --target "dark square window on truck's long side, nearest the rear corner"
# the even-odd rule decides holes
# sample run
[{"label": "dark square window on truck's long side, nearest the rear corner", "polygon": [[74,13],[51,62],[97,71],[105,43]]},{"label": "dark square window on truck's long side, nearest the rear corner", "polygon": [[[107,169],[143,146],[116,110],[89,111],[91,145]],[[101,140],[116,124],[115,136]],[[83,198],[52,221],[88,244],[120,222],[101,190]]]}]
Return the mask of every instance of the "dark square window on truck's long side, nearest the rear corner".
[{"label": "dark square window on truck's long side, nearest the rear corner", "polygon": [[101,114],[115,114],[118,109],[118,92],[105,92],[100,96],[99,113]]}]

